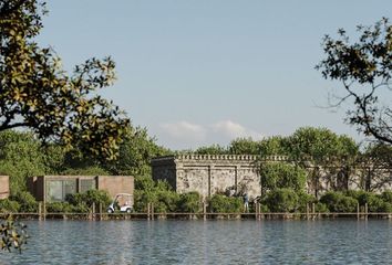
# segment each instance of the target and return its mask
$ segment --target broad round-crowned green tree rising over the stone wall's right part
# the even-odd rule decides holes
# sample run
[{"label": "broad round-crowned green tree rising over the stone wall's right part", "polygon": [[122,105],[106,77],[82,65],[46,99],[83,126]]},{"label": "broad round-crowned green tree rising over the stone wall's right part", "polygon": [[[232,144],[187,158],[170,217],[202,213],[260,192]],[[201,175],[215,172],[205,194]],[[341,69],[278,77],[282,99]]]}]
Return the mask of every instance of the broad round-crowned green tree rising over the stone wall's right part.
[{"label": "broad round-crowned green tree rising over the stone wall's right part", "polygon": [[305,168],[311,168],[308,186],[314,195],[321,189],[321,178],[329,189],[347,189],[351,170],[359,153],[355,141],[326,128],[302,127],[289,139],[290,157]]}]

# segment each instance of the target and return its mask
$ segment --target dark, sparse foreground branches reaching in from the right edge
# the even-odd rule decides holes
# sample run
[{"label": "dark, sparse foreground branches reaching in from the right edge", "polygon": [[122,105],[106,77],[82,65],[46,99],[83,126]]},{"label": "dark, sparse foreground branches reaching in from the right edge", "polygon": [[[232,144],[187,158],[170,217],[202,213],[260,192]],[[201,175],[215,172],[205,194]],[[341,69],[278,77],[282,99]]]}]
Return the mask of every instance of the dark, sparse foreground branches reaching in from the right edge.
[{"label": "dark, sparse foreground branches reaching in from the right edge", "polygon": [[332,107],[348,104],[347,123],[367,136],[392,145],[392,25],[386,18],[371,26],[357,26],[359,39],[350,42],[343,29],[334,40],[326,35],[326,59],[316,67],[327,80],[340,81],[343,93]]}]

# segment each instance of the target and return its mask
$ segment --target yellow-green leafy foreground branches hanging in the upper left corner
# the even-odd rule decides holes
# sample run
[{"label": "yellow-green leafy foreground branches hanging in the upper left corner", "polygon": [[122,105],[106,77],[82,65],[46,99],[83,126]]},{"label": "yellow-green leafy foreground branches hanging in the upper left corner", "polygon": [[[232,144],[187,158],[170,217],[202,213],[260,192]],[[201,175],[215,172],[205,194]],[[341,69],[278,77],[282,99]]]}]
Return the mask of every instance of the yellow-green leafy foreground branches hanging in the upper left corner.
[{"label": "yellow-green leafy foreground branches hanging in the upper left corner", "polygon": [[30,128],[42,142],[114,159],[130,120],[96,94],[115,80],[114,62],[91,59],[68,75],[34,40],[45,13],[39,0],[0,2],[0,131]]}]

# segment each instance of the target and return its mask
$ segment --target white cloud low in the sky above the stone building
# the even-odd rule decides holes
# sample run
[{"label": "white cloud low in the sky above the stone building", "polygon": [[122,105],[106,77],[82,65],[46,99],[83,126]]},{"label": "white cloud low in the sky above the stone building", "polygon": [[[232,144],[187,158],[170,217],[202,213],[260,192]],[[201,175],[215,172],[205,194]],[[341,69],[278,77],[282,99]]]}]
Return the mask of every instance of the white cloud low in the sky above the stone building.
[{"label": "white cloud low in the sky above the stone building", "polygon": [[238,137],[260,139],[262,134],[246,128],[233,120],[220,120],[212,125],[190,121],[165,123],[159,125],[159,144],[173,149],[198,148],[212,144],[228,145]]}]

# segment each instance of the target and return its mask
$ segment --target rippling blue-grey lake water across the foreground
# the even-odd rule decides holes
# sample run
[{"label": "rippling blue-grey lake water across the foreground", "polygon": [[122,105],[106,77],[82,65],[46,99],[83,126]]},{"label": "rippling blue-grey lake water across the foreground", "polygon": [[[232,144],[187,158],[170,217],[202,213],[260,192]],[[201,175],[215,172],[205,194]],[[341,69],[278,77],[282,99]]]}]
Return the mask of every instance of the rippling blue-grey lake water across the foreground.
[{"label": "rippling blue-grey lake water across the foreground", "polygon": [[392,221],[30,221],[0,264],[392,264]]}]

